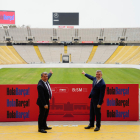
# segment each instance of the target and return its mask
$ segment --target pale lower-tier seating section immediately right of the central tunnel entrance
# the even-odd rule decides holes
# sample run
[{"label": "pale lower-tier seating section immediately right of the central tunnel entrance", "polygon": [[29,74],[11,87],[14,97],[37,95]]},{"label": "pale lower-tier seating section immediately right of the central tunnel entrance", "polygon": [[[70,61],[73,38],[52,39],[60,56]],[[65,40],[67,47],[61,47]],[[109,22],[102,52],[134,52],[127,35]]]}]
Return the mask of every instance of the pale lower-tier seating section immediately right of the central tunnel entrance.
[{"label": "pale lower-tier seating section immediately right of the central tunnel entrance", "polygon": [[92,45],[68,46],[68,54],[71,54],[71,62],[86,63],[92,51]]}]

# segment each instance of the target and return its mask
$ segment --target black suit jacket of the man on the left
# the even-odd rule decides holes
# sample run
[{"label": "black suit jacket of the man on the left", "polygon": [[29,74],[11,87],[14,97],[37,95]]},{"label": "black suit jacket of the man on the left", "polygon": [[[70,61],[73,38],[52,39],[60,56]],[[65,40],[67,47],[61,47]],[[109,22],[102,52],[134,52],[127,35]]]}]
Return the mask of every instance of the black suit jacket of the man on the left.
[{"label": "black suit jacket of the man on the left", "polygon": [[[48,74],[48,80],[52,76],[51,73]],[[49,105],[49,93],[46,85],[42,80],[39,80],[37,85],[38,90],[38,99],[37,99],[37,105],[40,107],[44,107],[45,105]]]}]

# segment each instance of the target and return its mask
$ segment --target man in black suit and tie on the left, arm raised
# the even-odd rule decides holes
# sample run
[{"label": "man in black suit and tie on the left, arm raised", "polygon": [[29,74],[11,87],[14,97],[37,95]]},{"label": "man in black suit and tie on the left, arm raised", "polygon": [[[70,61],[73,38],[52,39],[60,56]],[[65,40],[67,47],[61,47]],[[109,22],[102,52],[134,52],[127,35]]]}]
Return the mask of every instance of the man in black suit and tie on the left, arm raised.
[{"label": "man in black suit and tie on the left, arm raised", "polygon": [[41,74],[41,79],[39,80],[37,85],[37,105],[39,106],[38,132],[41,133],[47,133],[47,131],[45,130],[52,129],[51,127],[48,127],[46,123],[50,108],[49,100],[52,97],[52,91],[48,80],[52,76],[52,74],[52,70],[50,70],[49,74],[47,74],[47,72],[43,72]]}]

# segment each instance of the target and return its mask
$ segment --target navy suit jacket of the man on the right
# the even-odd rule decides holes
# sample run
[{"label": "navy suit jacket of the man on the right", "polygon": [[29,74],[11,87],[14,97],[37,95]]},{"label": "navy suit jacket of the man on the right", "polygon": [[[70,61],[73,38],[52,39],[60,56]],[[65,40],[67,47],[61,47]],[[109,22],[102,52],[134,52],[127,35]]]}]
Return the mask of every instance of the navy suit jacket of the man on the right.
[{"label": "navy suit jacket of the man on the right", "polygon": [[99,83],[95,84],[96,77],[93,77],[89,74],[85,74],[85,76],[93,81],[92,84],[93,88],[90,92],[89,98],[92,98],[94,101],[97,102],[97,104],[101,105],[103,103],[103,98],[104,98],[105,88],[106,88],[104,80],[101,79]]}]

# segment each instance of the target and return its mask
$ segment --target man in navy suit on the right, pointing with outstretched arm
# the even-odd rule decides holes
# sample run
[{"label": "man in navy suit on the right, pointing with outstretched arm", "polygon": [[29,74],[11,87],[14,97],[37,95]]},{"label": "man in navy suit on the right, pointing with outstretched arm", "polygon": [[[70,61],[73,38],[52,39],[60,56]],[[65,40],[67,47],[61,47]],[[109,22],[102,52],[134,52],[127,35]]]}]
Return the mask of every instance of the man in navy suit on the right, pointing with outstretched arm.
[{"label": "man in navy suit on the right, pointing with outstretched arm", "polygon": [[93,77],[89,74],[82,72],[87,78],[93,81],[92,90],[90,92],[89,98],[90,102],[90,123],[85,129],[90,129],[94,127],[94,121],[96,116],[96,128],[94,131],[99,131],[101,126],[101,105],[103,103],[103,98],[105,94],[105,82],[102,78],[102,71],[96,71],[96,77]]}]

